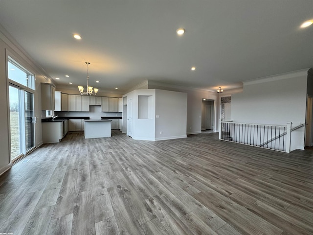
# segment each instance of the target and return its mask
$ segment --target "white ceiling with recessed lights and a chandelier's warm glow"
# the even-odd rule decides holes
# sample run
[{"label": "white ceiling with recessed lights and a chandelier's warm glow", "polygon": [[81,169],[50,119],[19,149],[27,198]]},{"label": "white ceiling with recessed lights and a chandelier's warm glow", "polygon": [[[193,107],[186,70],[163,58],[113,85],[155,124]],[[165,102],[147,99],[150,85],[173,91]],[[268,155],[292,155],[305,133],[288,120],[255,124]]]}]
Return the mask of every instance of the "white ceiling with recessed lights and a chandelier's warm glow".
[{"label": "white ceiling with recessed lights and a chandelier's warm glow", "polygon": [[311,68],[310,19],[313,0],[0,0],[0,24],[55,83],[86,86],[88,61],[89,85],[119,91],[146,79],[227,90]]}]

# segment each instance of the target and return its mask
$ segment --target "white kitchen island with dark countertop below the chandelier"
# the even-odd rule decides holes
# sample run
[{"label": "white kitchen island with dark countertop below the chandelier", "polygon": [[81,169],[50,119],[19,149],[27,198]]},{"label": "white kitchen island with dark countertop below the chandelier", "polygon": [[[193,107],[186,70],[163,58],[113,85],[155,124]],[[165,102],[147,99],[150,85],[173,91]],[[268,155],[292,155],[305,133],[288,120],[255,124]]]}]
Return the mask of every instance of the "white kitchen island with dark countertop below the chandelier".
[{"label": "white kitchen island with dark countertop below the chandelier", "polygon": [[111,137],[111,120],[86,119],[85,139]]}]

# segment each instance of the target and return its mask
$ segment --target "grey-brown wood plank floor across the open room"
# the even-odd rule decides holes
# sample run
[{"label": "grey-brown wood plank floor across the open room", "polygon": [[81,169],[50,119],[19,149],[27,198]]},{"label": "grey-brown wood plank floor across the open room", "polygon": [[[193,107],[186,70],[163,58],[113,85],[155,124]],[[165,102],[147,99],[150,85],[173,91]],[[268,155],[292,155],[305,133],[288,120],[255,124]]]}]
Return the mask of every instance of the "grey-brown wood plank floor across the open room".
[{"label": "grey-brown wood plank floor across the open room", "polygon": [[312,235],[313,150],[67,134],[0,176],[0,233]]}]

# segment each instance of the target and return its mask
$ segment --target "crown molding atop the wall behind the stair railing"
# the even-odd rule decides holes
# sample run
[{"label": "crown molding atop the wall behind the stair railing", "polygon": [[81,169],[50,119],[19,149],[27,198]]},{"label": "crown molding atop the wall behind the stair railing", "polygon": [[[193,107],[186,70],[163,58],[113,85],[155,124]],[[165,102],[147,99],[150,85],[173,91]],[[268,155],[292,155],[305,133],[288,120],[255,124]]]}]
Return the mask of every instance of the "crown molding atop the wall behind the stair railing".
[{"label": "crown molding atop the wall behind the stair railing", "polygon": [[257,79],[252,79],[252,80],[247,80],[244,83],[245,85],[252,85],[252,84],[260,84],[260,83],[265,83],[265,82],[272,82],[272,81],[278,81],[278,80],[283,80],[283,79],[289,79],[289,78],[294,78],[297,76],[307,76],[308,75],[308,69],[303,69],[303,70],[297,70],[297,71],[291,71],[291,72],[285,72],[285,73],[280,73],[276,75],[271,75],[267,77],[261,77]]}]

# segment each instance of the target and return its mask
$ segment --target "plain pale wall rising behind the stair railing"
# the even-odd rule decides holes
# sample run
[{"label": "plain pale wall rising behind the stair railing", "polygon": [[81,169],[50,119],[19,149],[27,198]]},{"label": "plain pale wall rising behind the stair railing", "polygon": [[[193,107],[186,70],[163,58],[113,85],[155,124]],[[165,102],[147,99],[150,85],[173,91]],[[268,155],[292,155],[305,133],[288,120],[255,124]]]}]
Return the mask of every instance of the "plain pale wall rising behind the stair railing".
[{"label": "plain pale wall rising behind the stair railing", "polygon": [[[235,122],[297,126],[306,119],[307,70],[245,82],[244,92],[231,96]],[[291,135],[291,151],[304,149],[305,128]]]}]

